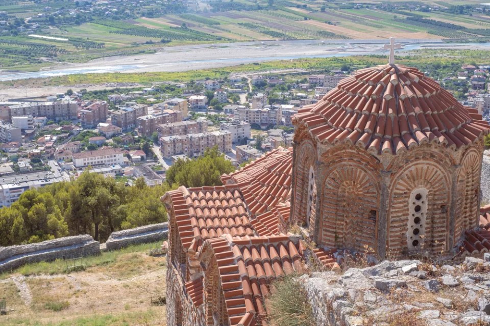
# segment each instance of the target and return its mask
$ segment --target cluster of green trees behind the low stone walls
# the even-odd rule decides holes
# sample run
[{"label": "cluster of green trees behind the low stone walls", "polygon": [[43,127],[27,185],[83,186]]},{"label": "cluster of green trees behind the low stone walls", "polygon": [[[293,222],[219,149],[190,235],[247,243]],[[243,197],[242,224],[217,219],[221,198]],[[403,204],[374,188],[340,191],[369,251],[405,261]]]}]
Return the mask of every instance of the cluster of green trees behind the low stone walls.
[{"label": "cluster of green trees behind the low stone walls", "polygon": [[166,221],[159,198],[179,185],[221,184],[219,176],[235,168],[216,147],[204,156],[178,160],[167,182],[150,187],[143,178],[132,187],[89,171],[76,180],[24,192],[0,209],[0,246],[34,243],[62,236],[91,234],[105,241],[113,231]]}]

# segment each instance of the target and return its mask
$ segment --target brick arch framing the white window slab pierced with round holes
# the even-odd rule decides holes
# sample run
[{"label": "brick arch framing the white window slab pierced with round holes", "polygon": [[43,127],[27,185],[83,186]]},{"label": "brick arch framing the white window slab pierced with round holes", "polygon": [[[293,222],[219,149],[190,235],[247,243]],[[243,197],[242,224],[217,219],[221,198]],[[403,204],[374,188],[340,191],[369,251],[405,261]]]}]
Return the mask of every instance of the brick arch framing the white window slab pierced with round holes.
[{"label": "brick arch framing the white window slab pierced with round holes", "polygon": [[[391,178],[387,221],[387,250],[395,255],[408,253],[410,195],[415,189],[427,190],[427,212],[423,250],[432,253],[449,246],[451,178],[443,162],[420,158],[401,168]],[[401,236],[402,235],[402,236]]]}]

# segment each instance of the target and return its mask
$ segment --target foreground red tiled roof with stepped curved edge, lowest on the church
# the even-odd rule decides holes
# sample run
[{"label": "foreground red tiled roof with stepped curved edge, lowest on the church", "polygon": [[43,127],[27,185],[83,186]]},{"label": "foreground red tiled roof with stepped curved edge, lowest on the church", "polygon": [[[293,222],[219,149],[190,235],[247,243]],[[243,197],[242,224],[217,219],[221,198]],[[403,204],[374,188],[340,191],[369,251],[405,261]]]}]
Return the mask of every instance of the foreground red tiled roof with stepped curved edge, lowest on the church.
[{"label": "foreground red tiled roof with stepped curved edge, lowest on the church", "polygon": [[[229,324],[261,324],[267,311],[264,298],[277,277],[304,270],[304,245],[294,236],[231,237],[207,240],[198,257],[212,250],[219,269]],[[256,316],[256,318],[253,318]]]}]

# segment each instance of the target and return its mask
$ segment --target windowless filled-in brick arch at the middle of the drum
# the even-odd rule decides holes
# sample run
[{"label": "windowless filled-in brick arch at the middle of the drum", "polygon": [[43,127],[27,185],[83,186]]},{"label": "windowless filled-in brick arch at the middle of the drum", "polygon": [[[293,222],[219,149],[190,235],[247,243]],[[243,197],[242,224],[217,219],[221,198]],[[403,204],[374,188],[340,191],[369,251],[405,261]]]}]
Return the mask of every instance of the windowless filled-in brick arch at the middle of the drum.
[{"label": "windowless filled-in brick arch at the middle of the drum", "polygon": [[368,158],[356,158],[344,152],[326,165],[318,242],[328,247],[376,251],[380,193],[377,172],[366,169]]}]

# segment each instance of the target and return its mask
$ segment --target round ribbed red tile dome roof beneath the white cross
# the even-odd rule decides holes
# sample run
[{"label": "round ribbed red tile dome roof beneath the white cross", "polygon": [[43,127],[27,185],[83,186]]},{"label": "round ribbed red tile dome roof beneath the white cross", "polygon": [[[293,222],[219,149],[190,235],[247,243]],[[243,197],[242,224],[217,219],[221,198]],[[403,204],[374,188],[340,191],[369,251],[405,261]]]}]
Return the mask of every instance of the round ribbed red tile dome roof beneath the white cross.
[{"label": "round ribbed red tile dome roof beneath the white cross", "polygon": [[373,154],[428,142],[456,149],[489,130],[477,110],[418,69],[401,65],[358,70],[292,119],[305,123],[321,143],[351,142]]}]

